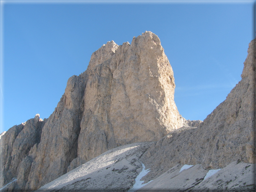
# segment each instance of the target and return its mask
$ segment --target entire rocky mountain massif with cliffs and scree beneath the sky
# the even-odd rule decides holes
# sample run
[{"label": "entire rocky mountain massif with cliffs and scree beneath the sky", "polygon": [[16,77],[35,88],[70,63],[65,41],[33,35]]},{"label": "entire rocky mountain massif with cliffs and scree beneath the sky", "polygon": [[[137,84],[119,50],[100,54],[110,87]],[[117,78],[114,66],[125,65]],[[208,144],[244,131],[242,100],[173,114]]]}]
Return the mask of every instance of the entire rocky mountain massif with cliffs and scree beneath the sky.
[{"label": "entire rocky mountain massif with cliffs and scree beneath the sky", "polygon": [[[172,67],[157,35],[145,32],[131,44],[104,44],[85,72],[69,78],[48,119],[37,114],[1,135],[0,190],[32,191],[49,183],[39,190],[127,191],[144,164],[150,171],[143,179],[153,181],[141,190],[189,191],[200,185],[222,190],[223,184],[214,185],[218,178],[210,188],[203,184],[208,170],[255,165],[255,45],[249,44],[242,80],[202,122],[179,114]],[[198,184],[182,187],[188,182],[182,176],[166,188],[186,164],[194,167],[185,171],[197,168],[200,178],[188,180]],[[255,178],[252,167],[245,172]],[[253,190],[254,180],[246,182],[232,187]]]}]

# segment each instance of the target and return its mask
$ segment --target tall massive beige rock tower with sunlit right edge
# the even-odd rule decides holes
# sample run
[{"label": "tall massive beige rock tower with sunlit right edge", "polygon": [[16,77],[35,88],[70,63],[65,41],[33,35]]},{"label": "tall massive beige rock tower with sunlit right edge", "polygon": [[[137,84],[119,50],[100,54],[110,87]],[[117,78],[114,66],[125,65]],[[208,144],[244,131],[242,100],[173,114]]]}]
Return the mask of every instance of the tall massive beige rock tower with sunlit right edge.
[{"label": "tall massive beige rock tower with sunlit right edge", "polygon": [[182,127],[173,71],[155,34],[134,37],[131,45],[108,42],[93,53],[86,73],[79,161]]}]

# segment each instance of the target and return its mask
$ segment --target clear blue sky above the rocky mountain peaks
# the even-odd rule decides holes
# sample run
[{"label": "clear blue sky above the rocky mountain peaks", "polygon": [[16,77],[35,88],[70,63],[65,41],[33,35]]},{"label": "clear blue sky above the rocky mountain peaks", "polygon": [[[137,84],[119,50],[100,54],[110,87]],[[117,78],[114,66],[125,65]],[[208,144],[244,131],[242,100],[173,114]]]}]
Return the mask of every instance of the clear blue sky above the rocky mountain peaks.
[{"label": "clear blue sky above the rocky mountain peaks", "polygon": [[[21,1],[22,2],[22,1]],[[253,38],[245,3],[2,3],[4,111],[1,131],[48,118],[72,75],[87,69],[107,41],[131,43],[152,31],[175,78],[177,108],[204,120],[241,80]]]}]

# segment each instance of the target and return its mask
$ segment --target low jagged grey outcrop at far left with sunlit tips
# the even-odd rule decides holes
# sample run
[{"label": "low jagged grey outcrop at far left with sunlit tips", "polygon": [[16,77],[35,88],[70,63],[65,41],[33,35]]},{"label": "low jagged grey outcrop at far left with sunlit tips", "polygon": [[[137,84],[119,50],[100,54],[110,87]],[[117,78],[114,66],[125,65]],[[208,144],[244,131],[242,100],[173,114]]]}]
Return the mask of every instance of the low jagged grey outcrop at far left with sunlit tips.
[{"label": "low jagged grey outcrop at far left with sunlit tips", "polygon": [[30,172],[32,159],[29,152],[41,140],[42,128],[47,119],[40,119],[36,114],[34,119],[10,128],[0,139],[1,156],[1,186],[17,178],[17,185],[25,187]]}]

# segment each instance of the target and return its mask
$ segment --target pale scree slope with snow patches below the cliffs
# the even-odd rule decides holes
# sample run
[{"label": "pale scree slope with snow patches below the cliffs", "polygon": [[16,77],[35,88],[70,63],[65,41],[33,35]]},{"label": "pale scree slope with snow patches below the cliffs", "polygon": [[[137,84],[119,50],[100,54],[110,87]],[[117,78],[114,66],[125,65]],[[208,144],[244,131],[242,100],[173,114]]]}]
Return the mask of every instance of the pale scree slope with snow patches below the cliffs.
[{"label": "pale scree slope with snow patches below the cliffs", "polygon": [[138,142],[111,149],[36,192],[255,191],[255,164],[238,161],[217,170],[206,170],[202,164],[177,164],[143,184],[143,176],[151,170],[145,169],[140,156],[153,143]]}]

